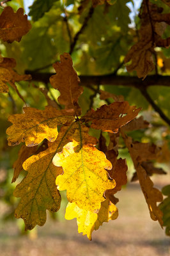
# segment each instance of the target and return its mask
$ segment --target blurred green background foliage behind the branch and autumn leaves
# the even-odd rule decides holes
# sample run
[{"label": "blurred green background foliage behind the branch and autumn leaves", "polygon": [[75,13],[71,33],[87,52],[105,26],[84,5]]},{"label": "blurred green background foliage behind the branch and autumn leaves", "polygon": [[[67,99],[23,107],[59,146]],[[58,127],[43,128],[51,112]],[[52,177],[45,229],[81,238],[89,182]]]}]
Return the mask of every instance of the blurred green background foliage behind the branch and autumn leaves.
[{"label": "blurred green background foliage behind the branch and autumn leaves", "polygon": [[[8,5],[12,6],[14,10],[19,7],[26,7],[27,10],[27,2],[29,1],[24,3],[22,0],[12,0],[8,2]],[[151,2],[164,7],[165,12],[169,9],[162,1],[151,0]],[[128,49],[137,42],[138,29],[140,28],[140,20],[137,14],[140,4],[141,1],[115,0],[111,6],[109,4],[98,5],[93,10],[93,15],[91,15],[83,33],[79,35],[72,51],[73,65],[79,75],[110,74],[117,70],[117,74],[121,76],[136,76],[135,72],[127,73],[123,60]],[[23,36],[20,42],[13,42],[12,44],[1,42],[0,51],[2,56],[15,58],[17,61],[16,70],[19,74],[23,74],[25,70],[36,70],[42,73],[54,72],[52,63],[59,60],[60,54],[70,51],[70,44],[88,15],[91,1],[88,1],[84,8],[80,8],[80,6],[81,0],[34,1],[30,12],[28,11],[29,20],[32,24],[31,31]],[[1,12],[3,12],[3,8],[0,8]],[[166,29],[165,36],[170,36],[169,28]],[[162,76],[170,75],[170,49],[157,48],[156,51],[158,74]],[[151,74],[155,74],[154,72],[153,70]],[[59,92],[54,90],[49,83],[20,82],[17,83],[17,88],[26,100],[27,106],[38,109],[43,109],[47,105],[47,100],[39,88],[49,90],[48,96],[52,100],[57,101],[59,96]],[[130,132],[130,135],[134,140],[153,142],[162,147],[164,153],[158,159],[160,163],[158,166],[168,171],[170,166],[169,129],[158,113],[153,111],[141,92],[130,86],[101,84],[100,89],[116,95],[123,95],[130,105],[143,108],[139,115],[143,115],[144,119],[150,122],[150,128]],[[84,88],[84,93],[79,100],[82,114],[86,113],[91,107],[98,108],[106,103],[104,100],[100,100],[98,93],[94,93],[95,90],[98,90],[98,86]],[[162,111],[170,116],[170,87],[150,86],[148,92]],[[109,99],[109,102],[113,102],[113,100]],[[13,218],[13,211],[18,202],[18,199],[13,196],[15,184],[12,184],[11,180],[13,175],[12,166],[17,159],[20,148],[20,146],[8,147],[5,131],[10,125],[7,121],[8,116],[14,113],[22,113],[23,106],[22,100],[19,99],[13,88],[10,88],[10,93],[0,95],[0,197],[3,202],[1,202],[3,210],[0,211],[3,220]],[[99,136],[99,134],[94,134],[93,131],[91,133]],[[128,150],[124,148],[123,141],[120,141],[120,143],[122,145],[120,145],[119,154],[120,157],[127,159],[130,180],[134,167],[128,156]],[[26,175],[26,172],[23,171],[15,183],[18,184],[24,175]],[[63,198],[65,198],[63,205],[65,205],[65,194],[63,194]],[[64,211],[64,208],[64,206],[61,207],[61,211]],[[63,216],[63,214],[61,215]],[[59,213],[54,214],[53,218],[61,218],[61,215]]]}]

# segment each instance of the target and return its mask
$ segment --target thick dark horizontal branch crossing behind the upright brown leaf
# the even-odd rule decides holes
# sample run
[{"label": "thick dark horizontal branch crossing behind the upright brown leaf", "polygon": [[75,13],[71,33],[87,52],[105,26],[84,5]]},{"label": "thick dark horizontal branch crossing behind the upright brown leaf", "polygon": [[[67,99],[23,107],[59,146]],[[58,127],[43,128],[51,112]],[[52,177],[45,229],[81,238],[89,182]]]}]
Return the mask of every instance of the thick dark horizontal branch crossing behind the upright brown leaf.
[{"label": "thick dark horizontal branch crossing behind the upright brown leaf", "polygon": [[[50,76],[53,73],[40,73],[27,70],[26,74],[31,74],[33,81],[40,81],[43,83],[49,83]],[[136,76],[115,76],[114,74],[108,74],[103,76],[79,76],[81,79],[81,85],[88,87],[88,85],[123,85],[132,86],[136,88],[147,88],[148,86],[170,86],[170,76],[148,76],[144,81]]]}]

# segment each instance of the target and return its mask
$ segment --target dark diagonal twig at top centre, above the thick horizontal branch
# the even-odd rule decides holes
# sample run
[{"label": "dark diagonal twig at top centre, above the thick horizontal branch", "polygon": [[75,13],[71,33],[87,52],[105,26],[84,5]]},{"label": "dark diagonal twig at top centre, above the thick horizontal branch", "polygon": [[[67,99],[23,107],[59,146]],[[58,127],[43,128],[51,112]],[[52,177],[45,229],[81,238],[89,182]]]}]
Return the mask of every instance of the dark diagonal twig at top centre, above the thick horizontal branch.
[{"label": "dark diagonal twig at top centre, above the thick horizontal branch", "polygon": [[84,23],[81,26],[81,29],[75,34],[74,38],[73,38],[73,42],[70,45],[70,55],[73,52],[73,49],[75,47],[75,45],[77,44],[77,40],[79,39],[79,36],[82,34],[82,32],[84,31],[84,29],[86,28],[86,26],[88,25],[88,21],[91,18],[91,16],[93,15],[94,12],[94,8],[93,6],[91,6],[91,8],[89,9],[88,15],[86,16],[86,18],[84,19]]}]

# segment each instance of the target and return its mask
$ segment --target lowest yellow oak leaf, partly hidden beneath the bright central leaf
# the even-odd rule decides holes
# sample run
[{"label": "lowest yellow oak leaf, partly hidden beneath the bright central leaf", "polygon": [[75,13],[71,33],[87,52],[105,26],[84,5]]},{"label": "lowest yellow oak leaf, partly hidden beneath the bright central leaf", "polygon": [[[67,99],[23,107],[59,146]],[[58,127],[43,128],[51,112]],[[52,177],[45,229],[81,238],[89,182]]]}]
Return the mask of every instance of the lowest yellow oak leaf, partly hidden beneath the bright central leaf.
[{"label": "lowest yellow oak leaf, partly hidden beneath the bright central leaf", "polygon": [[77,218],[78,232],[82,232],[83,236],[87,235],[88,239],[91,240],[93,230],[98,230],[104,222],[118,218],[118,209],[108,199],[102,202],[98,214],[81,209],[73,202],[68,203],[65,218],[66,220]]}]

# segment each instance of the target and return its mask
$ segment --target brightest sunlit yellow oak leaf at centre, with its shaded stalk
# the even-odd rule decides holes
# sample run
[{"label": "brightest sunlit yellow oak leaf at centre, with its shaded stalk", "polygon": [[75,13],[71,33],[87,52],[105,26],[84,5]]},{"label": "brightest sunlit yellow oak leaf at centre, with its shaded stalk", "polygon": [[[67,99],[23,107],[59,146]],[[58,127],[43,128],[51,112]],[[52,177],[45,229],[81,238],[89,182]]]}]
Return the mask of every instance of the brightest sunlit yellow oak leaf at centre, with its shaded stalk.
[{"label": "brightest sunlit yellow oak leaf at centre, with its shaded stalk", "polygon": [[69,202],[75,202],[81,209],[98,212],[104,201],[104,191],[116,186],[105,170],[112,166],[103,152],[93,145],[83,145],[82,141],[86,141],[82,132],[84,125],[78,125],[77,140],[65,145],[63,152],[53,159],[54,165],[62,166],[64,172],[57,177],[56,184],[59,190],[67,190]]}]

